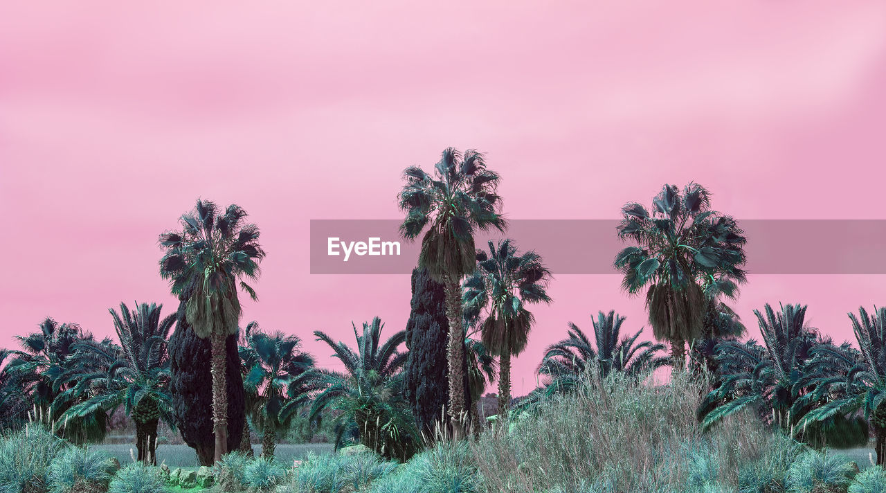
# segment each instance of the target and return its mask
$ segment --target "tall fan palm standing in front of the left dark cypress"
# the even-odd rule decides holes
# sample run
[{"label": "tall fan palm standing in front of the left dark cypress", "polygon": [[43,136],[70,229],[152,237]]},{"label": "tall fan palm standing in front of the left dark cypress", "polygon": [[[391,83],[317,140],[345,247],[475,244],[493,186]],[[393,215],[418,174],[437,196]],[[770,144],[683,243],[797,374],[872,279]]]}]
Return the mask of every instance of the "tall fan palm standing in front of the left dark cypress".
[{"label": "tall fan palm standing in front of the left dark cypress", "polygon": [[256,300],[243,278],[258,278],[258,262],[265,256],[259,228],[244,223],[245,217],[246,211],[237,205],[231,204],[222,215],[214,202],[197,200],[194,210],[181,218],[182,231],[167,231],[159,238],[166,249],[160,276],[171,281],[174,294],[192,287],[187,320],[198,337],[211,342],[216,461],[228,451],[225,340],[237,333],[241,315],[237,282]]}]

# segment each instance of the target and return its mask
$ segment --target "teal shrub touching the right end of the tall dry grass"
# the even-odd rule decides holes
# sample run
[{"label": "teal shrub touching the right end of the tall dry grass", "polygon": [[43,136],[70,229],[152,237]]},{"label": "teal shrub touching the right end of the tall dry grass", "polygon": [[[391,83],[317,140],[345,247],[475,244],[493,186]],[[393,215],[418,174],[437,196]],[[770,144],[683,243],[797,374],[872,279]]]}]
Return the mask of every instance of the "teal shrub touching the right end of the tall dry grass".
[{"label": "teal shrub touching the right end of the tall dry grass", "polygon": [[799,443],[776,434],[762,457],[739,469],[739,493],[784,493],[790,465],[802,450]]}]

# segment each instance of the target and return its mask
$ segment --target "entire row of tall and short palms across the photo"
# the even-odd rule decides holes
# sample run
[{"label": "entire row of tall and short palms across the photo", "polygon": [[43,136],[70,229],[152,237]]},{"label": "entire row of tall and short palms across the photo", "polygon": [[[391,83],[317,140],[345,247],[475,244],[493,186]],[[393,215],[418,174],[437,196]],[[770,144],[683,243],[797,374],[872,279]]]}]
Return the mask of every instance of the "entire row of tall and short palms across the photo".
[{"label": "entire row of tall and short palms across the photo", "polygon": [[[444,286],[448,333],[447,404],[443,424],[455,438],[480,422],[476,403],[498,380],[499,419],[509,418],[510,362],[526,347],[534,324],[531,307],[549,303],[551,273],[532,250],[511,239],[475,245],[478,231],[507,231],[497,193],[500,177],[482,153],[447,148],[431,172],[410,167],[399,195],[404,239],[421,237],[418,267]],[[640,380],[664,366],[714,372],[699,409],[703,426],[745,408],[794,434],[863,411],[877,436],[878,462],[886,457],[886,309],[864,309],[851,324],[859,349],[836,346],[804,322],[806,308],[769,305],[755,312],[763,344],[740,342],[745,327],[727,305],[746,282],[743,231],[729,215],[711,209],[699,184],[665,185],[652,207],[622,208],[618,236],[630,245],[615,266],[626,293],[645,294],[656,340],[642,329],[621,333],[625,317],[614,311],[592,319],[593,336],[570,324],[548,347],[538,373],[544,385],[525,402],[570,392],[582,379],[613,372]],[[337,446],[361,442],[386,457],[406,458],[427,437],[404,398],[404,331],[382,339],[376,317],[354,325],[354,346],[316,331],[344,367],[318,368],[301,340],[266,333],[256,323],[240,328],[240,292],[260,275],[265,256],[257,226],[236,205],[208,200],[183,215],[181,228],[160,238],[159,273],[183,303],[162,317],[162,306],[120,303],[110,309],[117,340],[97,340],[78,325],[47,318],[40,331],[19,337],[20,350],[0,352],[0,425],[18,417],[53,426],[73,441],[100,439],[109,413],[122,408],[136,424],[138,458],[156,461],[159,422],[175,426],[167,340],[183,319],[211,348],[214,458],[228,452],[226,341],[239,334],[239,371],[245,407],[259,430],[262,453],[273,456],[277,437],[298,416],[331,419]],[[662,356],[666,346],[670,356]],[[687,349],[690,357],[687,358]],[[497,366],[497,376],[496,376]],[[248,427],[248,425],[247,425]],[[252,450],[245,430],[244,449]]]}]

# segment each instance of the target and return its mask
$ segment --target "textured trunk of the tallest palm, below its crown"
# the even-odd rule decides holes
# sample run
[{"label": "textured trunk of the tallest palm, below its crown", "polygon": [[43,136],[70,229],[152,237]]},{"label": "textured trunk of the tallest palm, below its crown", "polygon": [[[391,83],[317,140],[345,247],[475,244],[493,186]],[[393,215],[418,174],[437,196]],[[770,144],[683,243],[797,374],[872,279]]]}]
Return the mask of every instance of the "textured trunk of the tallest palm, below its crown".
[{"label": "textured trunk of the tallest palm, below its crown", "polygon": [[447,334],[447,380],[449,385],[449,419],[452,423],[453,437],[458,439],[464,434],[465,420],[465,388],[463,372],[465,364],[464,334],[462,329],[462,289],[459,278],[450,276],[445,283],[446,315],[449,322]]}]

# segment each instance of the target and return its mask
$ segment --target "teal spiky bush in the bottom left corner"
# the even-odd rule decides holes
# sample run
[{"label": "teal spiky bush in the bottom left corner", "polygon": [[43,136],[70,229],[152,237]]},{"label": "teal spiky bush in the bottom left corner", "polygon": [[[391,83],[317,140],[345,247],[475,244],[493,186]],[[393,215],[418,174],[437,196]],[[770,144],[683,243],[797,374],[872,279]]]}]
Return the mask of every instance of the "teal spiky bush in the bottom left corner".
[{"label": "teal spiky bush in the bottom left corner", "polygon": [[42,425],[27,425],[0,438],[0,493],[47,491],[52,459],[65,447]]}]

